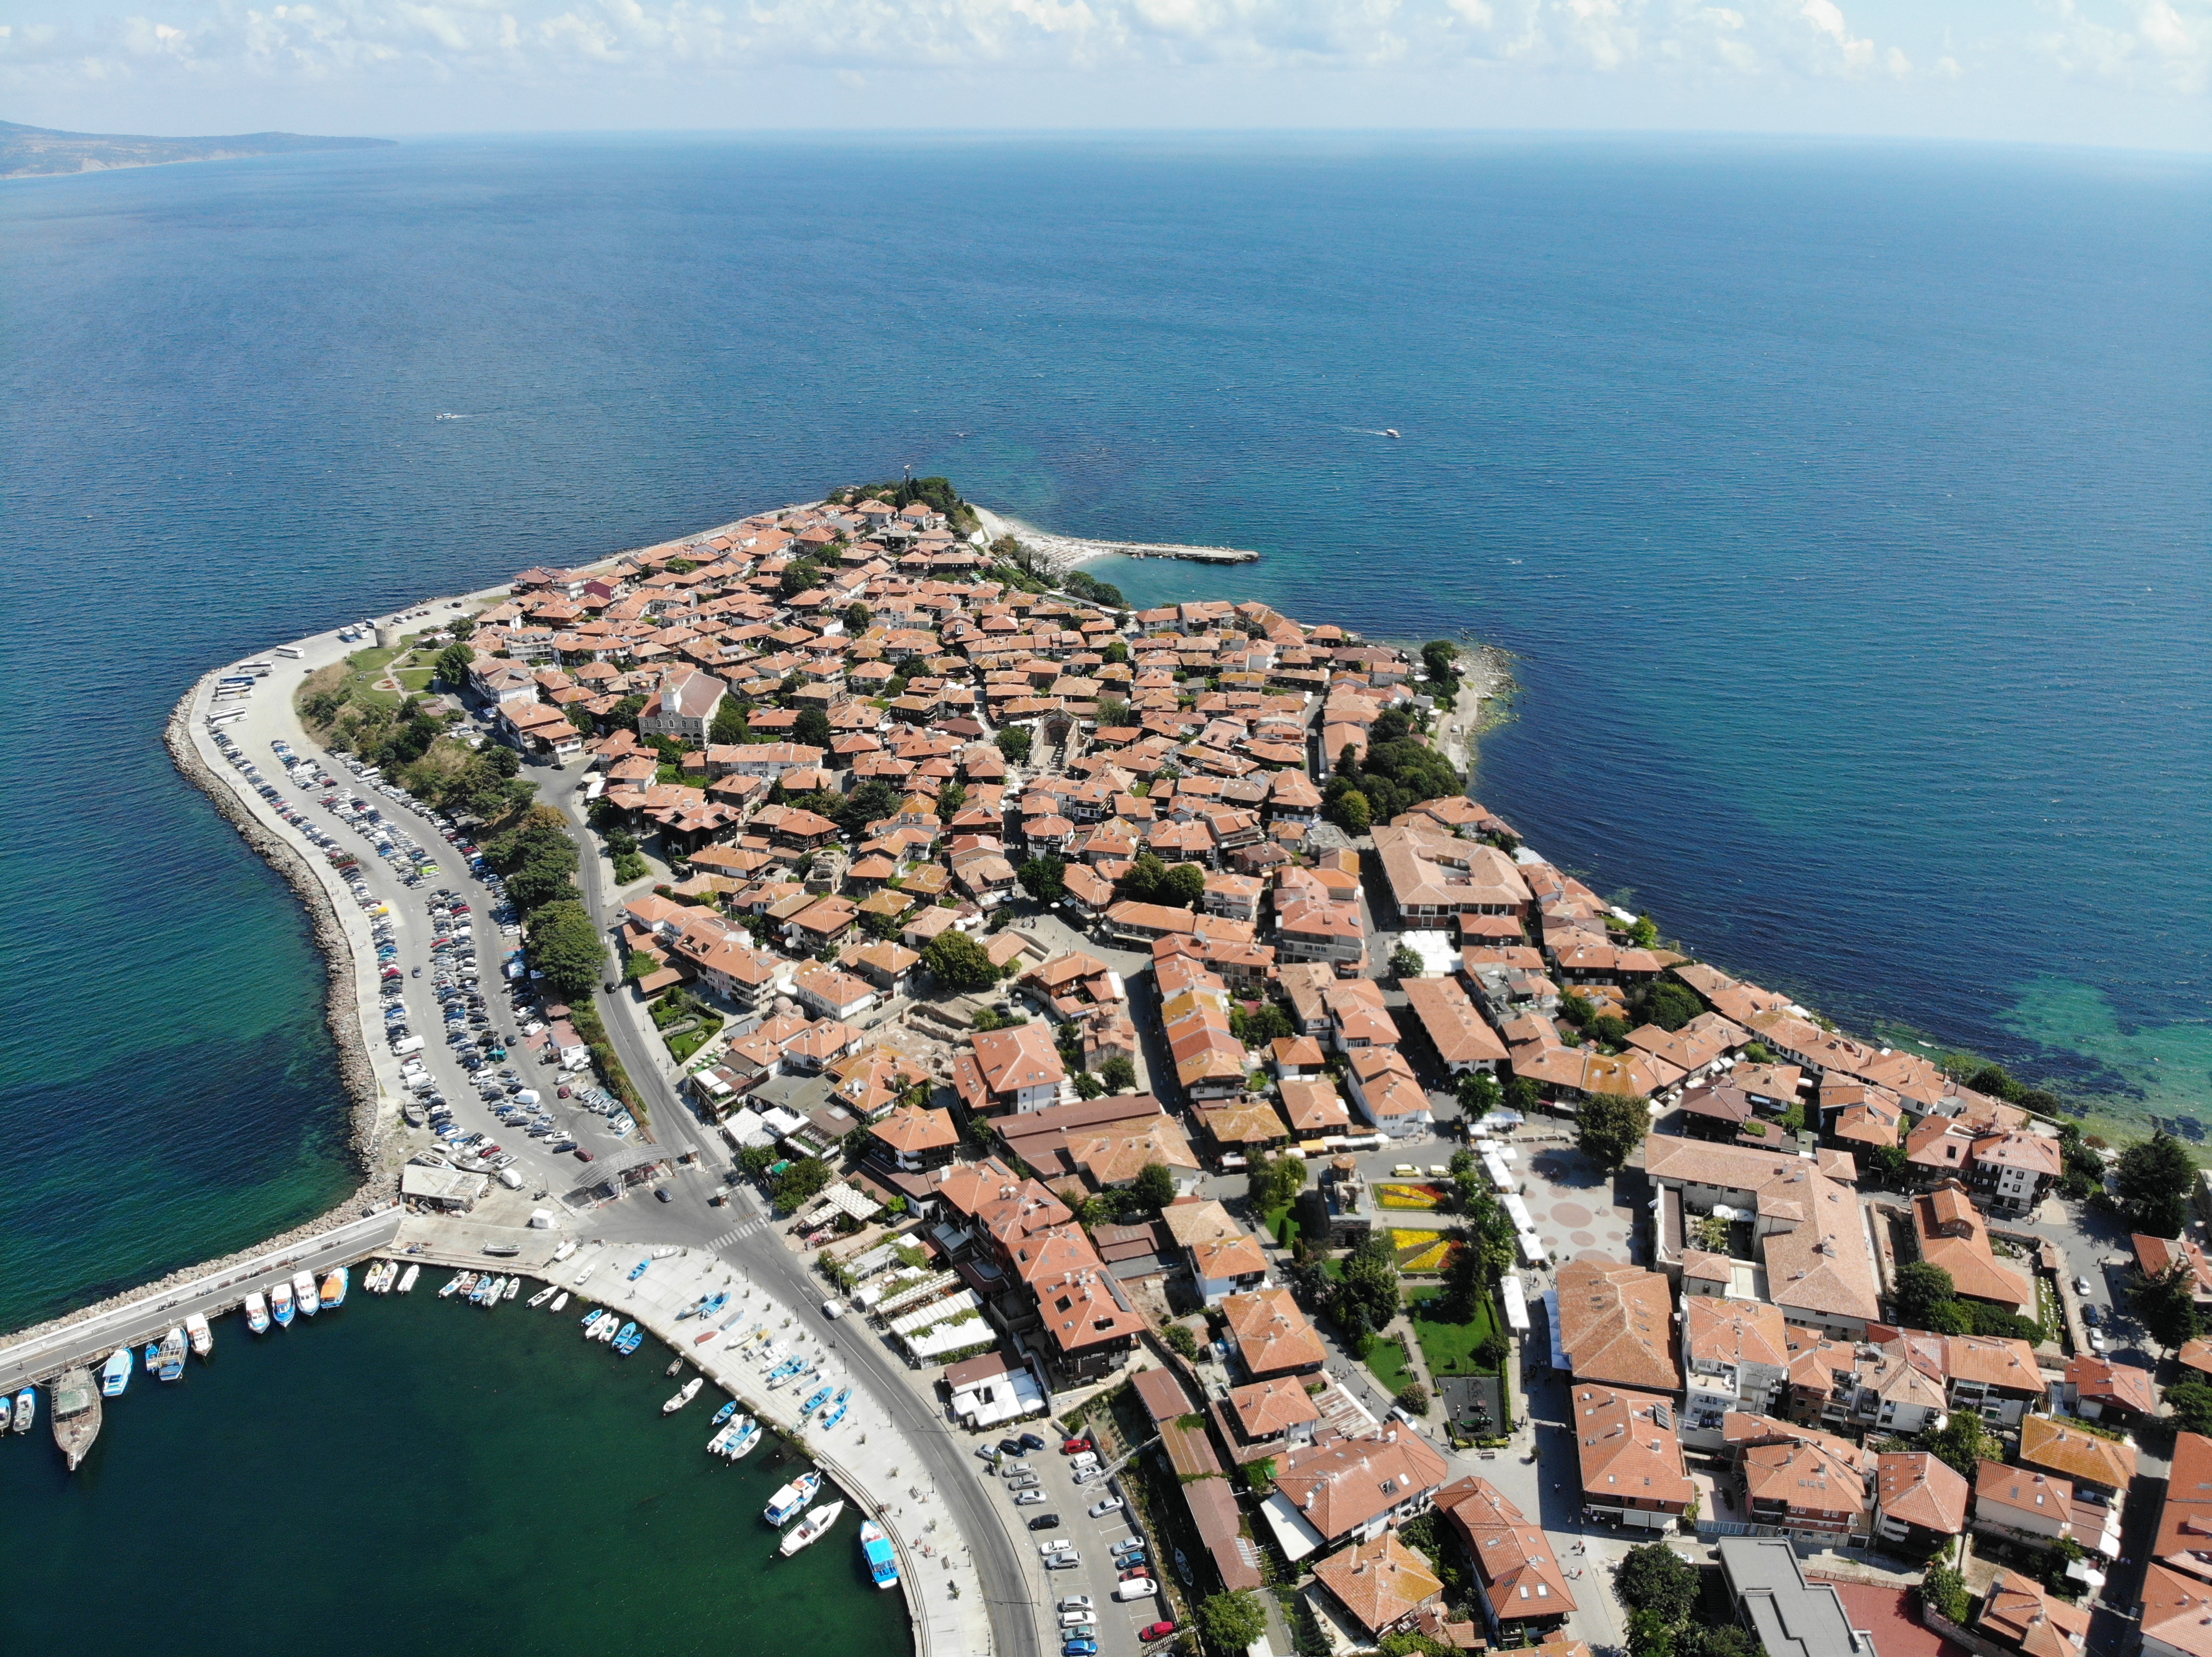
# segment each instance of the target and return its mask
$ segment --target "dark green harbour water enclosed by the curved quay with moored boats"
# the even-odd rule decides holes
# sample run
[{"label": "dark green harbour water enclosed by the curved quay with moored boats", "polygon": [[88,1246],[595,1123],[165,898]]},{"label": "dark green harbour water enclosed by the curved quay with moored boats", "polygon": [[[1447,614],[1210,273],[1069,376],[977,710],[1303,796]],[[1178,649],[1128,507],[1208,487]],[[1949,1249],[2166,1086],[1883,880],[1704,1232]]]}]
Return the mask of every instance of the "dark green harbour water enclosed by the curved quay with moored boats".
[{"label": "dark green harbour water enclosed by the curved quay with moored boats", "polygon": [[[0,1440],[0,1646],[201,1653],[690,1657],[905,1653],[900,1593],[847,1509],[774,1558],[799,1465],[708,1456],[712,1387],[677,1416],[668,1350],[617,1359],[566,1312],[354,1295],[106,1401],[64,1476],[46,1423]],[[526,1299],[526,1295],[524,1295]]]}]

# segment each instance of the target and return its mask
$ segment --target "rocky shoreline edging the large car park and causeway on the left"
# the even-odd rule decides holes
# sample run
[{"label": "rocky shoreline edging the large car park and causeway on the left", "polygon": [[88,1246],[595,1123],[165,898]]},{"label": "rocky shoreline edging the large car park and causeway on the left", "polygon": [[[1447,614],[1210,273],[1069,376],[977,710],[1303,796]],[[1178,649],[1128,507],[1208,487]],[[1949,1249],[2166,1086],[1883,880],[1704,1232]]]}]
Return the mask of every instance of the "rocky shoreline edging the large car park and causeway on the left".
[{"label": "rocky shoreline edging the large car park and causeway on the left", "polygon": [[164,1277],[155,1277],[146,1284],[133,1284],[126,1290],[88,1306],[77,1306],[75,1310],[46,1319],[44,1323],[11,1330],[9,1341],[38,1339],[69,1328],[71,1323],[82,1323],[84,1319],[111,1312],[119,1306],[142,1301],[164,1288],[181,1288],[184,1284],[221,1273],[230,1266],[243,1266],[261,1255],[307,1242],[332,1226],[341,1226],[349,1220],[363,1217],[365,1213],[374,1213],[398,1202],[398,1147],[383,1133],[383,1120],[376,1105],[376,1072],[369,1065],[369,1049],[361,1036],[361,996],[354,981],[354,952],[345,941],[345,928],[338,924],[338,910],[330,899],[330,890],[307,866],[307,859],[254,822],[252,813],[237,798],[230,782],[199,758],[199,749],[192,745],[190,720],[192,698],[199,696],[206,683],[208,680],[201,678],[177,700],[177,707],[170,709],[168,725],[161,731],[161,740],[168,747],[168,758],[177,771],[195,789],[208,795],[215,811],[239,831],[239,837],[252,846],[270,864],[270,868],[283,875],[285,884],[307,910],[307,919],[314,928],[314,946],[323,952],[330,979],[323,996],[323,1021],[330,1025],[330,1038],[338,1049],[338,1080],[345,1083],[345,1091],[352,1098],[352,1127],[345,1149],[354,1160],[354,1171],[358,1173],[361,1184],[332,1209],[325,1209],[314,1220],[292,1226],[290,1231],[281,1231],[274,1237],[259,1237],[246,1248],[217,1259],[197,1259],[190,1266],[179,1266]]}]

